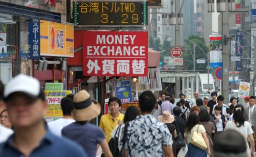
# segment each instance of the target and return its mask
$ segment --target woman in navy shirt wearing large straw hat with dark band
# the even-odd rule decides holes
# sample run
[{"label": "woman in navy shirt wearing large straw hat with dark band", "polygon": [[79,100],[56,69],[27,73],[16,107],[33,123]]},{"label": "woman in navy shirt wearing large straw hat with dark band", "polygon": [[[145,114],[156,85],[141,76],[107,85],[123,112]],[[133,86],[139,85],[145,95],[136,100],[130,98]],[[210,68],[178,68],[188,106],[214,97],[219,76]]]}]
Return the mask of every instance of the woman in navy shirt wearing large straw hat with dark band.
[{"label": "woman in navy shirt wearing large straw hat with dark band", "polygon": [[90,98],[86,90],[77,92],[73,97],[74,109],[72,111],[75,122],[63,127],[62,136],[79,143],[88,156],[95,156],[97,144],[100,144],[105,156],[112,157],[103,131],[89,123],[100,113],[100,104]]}]

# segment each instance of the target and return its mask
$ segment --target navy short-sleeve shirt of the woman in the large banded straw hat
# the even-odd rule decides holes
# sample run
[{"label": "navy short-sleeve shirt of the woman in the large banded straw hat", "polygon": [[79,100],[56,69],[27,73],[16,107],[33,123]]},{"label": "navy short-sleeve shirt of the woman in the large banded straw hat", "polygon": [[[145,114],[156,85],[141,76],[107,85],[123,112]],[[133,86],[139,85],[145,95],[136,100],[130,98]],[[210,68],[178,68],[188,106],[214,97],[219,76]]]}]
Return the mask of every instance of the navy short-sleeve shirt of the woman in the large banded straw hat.
[{"label": "navy short-sleeve shirt of the woman in the large banded straw hat", "polygon": [[88,156],[96,155],[96,145],[105,139],[103,131],[89,122],[80,124],[73,122],[61,130],[62,136],[79,143],[87,152]]}]

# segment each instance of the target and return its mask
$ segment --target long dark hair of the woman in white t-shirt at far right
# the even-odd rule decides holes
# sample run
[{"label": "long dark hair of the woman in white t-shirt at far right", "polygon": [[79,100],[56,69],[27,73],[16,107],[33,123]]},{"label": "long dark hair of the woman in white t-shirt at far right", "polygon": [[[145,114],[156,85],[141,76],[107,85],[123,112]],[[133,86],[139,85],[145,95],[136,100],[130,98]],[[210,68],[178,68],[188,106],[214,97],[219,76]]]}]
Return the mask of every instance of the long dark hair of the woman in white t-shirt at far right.
[{"label": "long dark hair of the woman in white t-shirt at far right", "polygon": [[[241,107],[241,109],[235,110],[235,108],[238,108],[238,107]],[[245,118],[243,116],[243,111],[244,111],[244,107],[242,104],[236,104],[234,106],[233,119],[237,127],[244,125]],[[237,122],[238,122],[238,125],[237,125]]]}]

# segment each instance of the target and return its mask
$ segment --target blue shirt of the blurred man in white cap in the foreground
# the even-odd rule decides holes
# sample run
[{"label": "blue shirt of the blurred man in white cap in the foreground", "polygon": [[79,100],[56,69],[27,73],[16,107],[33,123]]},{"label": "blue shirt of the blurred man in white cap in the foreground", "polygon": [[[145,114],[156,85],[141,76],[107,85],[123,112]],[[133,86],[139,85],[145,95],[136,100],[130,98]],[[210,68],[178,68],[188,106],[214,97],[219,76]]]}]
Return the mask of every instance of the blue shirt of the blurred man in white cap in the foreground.
[{"label": "blue shirt of the blurred man in white cap in the foreground", "polygon": [[[14,134],[14,133],[13,133]],[[5,141],[0,143],[0,157],[24,156],[13,145],[13,134]],[[69,139],[61,138],[53,135],[47,130],[42,138],[40,145],[29,154],[29,157],[47,156],[47,157],[87,157],[82,147]]]}]

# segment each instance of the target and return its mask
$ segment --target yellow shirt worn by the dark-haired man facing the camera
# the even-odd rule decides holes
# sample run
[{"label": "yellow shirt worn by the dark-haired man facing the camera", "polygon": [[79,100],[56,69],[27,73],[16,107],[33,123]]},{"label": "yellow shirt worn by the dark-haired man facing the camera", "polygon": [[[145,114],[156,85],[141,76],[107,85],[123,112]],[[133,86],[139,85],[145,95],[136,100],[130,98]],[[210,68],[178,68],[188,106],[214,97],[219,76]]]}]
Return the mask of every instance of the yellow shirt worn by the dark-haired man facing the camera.
[{"label": "yellow shirt worn by the dark-haired man facing the camera", "polygon": [[119,113],[119,115],[113,120],[113,117],[110,113],[102,115],[99,122],[99,127],[103,130],[107,142],[110,139],[110,134],[113,131],[116,125],[119,125],[118,120],[120,119],[123,122],[124,115]]}]

